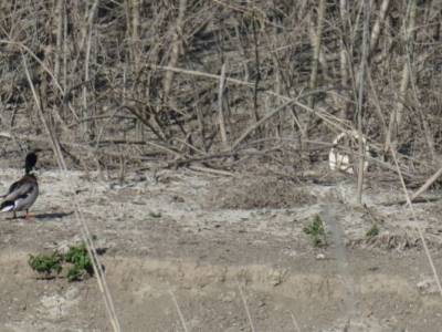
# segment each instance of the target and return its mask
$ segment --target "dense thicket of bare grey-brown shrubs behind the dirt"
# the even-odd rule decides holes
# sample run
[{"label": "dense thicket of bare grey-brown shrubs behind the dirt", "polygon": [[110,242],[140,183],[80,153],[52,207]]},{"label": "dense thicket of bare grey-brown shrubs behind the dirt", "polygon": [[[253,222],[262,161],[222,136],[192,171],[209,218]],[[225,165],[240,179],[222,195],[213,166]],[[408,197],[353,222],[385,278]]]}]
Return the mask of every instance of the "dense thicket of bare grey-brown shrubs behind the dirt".
[{"label": "dense thicket of bare grey-brown shrubs behind the dirt", "polygon": [[2,132],[44,144],[43,115],[81,166],[157,158],[228,166],[251,155],[306,166],[326,156],[338,133],[357,128],[364,95],[361,127],[379,158],[392,146],[421,158],[413,167],[436,167],[440,1],[0,7]]}]

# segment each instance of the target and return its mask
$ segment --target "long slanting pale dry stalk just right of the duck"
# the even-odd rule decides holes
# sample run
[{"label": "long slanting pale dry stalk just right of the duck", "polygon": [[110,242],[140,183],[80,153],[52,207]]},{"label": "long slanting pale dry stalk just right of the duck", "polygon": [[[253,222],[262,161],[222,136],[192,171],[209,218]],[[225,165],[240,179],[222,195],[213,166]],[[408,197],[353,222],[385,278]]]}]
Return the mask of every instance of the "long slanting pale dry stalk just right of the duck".
[{"label": "long slanting pale dry stalk just right of the duck", "polygon": [[[39,111],[39,114],[40,114],[40,120],[41,120],[41,122],[42,122],[42,124],[44,126],[44,129],[46,131],[46,134],[51,138],[50,141],[51,141],[51,144],[52,144],[52,148],[54,151],[54,154],[55,154],[55,156],[57,158],[59,167],[63,170],[63,174],[64,174],[65,178],[69,181],[72,181],[71,177],[67,175],[67,167],[66,167],[66,164],[64,162],[64,158],[63,158],[63,155],[62,155],[62,152],[61,152],[60,143],[59,143],[57,138],[55,137],[55,135],[53,134],[53,131],[51,131],[51,128],[49,127],[48,122],[44,118],[43,111],[40,107],[39,96],[38,96],[38,94],[35,92],[34,85],[32,83],[32,79],[31,79],[31,75],[29,73],[28,65],[27,65],[27,60],[25,60],[23,53],[21,54],[21,58],[22,58],[24,72],[25,72],[25,75],[27,75],[27,79],[28,79],[28,83],[29,83],[29,86],[30,86],[30,89],[32,91],[32,95],[34,97],[35,106],[36,106],[36,108]],[[70,187],[72,188],[72,190],[74,190],[74,188],[75,188],[74,184],[71,184]],[[90,231],[88,226],[87,226],[87,224],[86,224],[86,221],[85,221],[85,219],[84,219],[84,217],[83,217],[83,215],[82,215],[82,212],[80,210],[80,205],[78,205],[78,203],[77,203],[77,200],[75,198],[75,193],[72,193],[72,194],[73,194],[72,195],[73,205],[74,205],[74,208],[75,208],[75,217],[76,217],[77,222],[80,225],[80,230],[81,230],[83,240],[85,242],[85,246],[86,246],[86,249],[87,249],[87,253],[92,258],[91,261],[92,261],[92,266],[93,266],[94,272],[95,272],[94,276],[96,277],[99,290],[101,290],[101,292],[103,294],[103,299],[104,299],[106,311],[107,311],[107,314],[108,314],[108,318],[109,318],[109,321],[110,321],[110,325],[113,326],[113,330],[115,332],[120,332],[122,329],[120,329],[120,324],[119,324],[118,318],[116,315],[114,301],[112,299],[109,289],[107,287],[107,282],[106,282],[106,279],[104,277],[103,267],[102,267],[102,263],[99,262],[99,259],[98,259],[98,256],[97,256],[97,252],[96,252],[96,249],[95,249],[95,245],[94,245],[94,242],[92,240],[91,231]]]}]

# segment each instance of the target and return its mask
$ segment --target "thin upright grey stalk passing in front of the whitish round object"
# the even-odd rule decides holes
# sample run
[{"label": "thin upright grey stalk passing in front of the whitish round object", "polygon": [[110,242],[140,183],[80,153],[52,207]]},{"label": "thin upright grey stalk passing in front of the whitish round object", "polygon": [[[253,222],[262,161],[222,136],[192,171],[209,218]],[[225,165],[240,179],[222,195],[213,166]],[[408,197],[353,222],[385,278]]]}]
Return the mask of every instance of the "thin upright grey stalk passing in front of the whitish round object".
[{"label": "thin upright grey stalk passing in front of the whitish round object", "polygon": [[362,55],[359,69],[359,96],[358,96],[358,145],[359,145],[359,167],[358,167],[358,204],[362,203],[362,185],[364,185],[364,132],[362,132],[362,108],[364,108],[364,87],[367,70],[368,55],[368,28],[370,23],[370,0],[364,0],[364,31],[362,31]]}]

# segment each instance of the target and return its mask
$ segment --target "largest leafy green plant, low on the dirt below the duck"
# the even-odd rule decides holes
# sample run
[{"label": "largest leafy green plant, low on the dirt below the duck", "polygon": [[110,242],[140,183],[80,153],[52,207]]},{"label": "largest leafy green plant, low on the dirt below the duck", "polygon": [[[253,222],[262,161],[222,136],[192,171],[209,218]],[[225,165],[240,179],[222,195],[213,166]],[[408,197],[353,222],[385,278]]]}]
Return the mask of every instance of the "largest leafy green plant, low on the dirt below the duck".
[{"label": "largest leafy green plant, low on the dirt below the duck", "polygon": [[67,268],[69,281],[78,281],[86,274],[94,274],[91,257],[84,243],[71,247],[64,255],[59,251],[51,255],[31,255],[28,263],[32,270],[45,274],[45,278],[59,276],[63,268]]}]

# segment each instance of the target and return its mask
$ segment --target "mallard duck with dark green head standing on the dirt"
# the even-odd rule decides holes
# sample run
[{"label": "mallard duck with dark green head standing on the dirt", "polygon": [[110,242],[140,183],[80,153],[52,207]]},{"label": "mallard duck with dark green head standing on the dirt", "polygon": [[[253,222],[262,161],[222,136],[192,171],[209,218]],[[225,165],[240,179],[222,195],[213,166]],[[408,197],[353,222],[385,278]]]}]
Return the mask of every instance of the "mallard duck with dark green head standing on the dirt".
[{"label": "mallard duck with dark green head standing on the dirt", "polygon": [[31,152],[24,160],[24,176],[13,183],[6,195],[1,196],[3,203],[0,205],[2,212],[13,211],[13,217],[17,218],[17,211],[27,210],[25,218],[29,217],[29,208],[34,204],[39,196],[39,184],[36,177],[32,174],[36,164],[36,154]]}]

